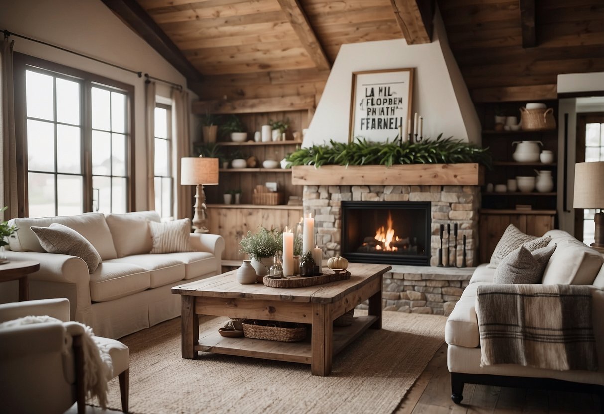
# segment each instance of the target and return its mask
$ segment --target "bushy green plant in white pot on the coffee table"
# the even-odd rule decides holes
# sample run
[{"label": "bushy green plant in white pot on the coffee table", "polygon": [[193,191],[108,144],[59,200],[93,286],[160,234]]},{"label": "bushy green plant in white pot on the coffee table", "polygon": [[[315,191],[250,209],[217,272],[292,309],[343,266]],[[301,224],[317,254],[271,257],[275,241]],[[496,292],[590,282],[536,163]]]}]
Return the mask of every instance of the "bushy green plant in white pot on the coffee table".
[{"label": "bushy green plant in white pot on the coffee table", "polygon": [[283,247],[283,241],[281,233],[276,229],[268,230],[260,227],[256,234],[249,231],[248,235],[239,242],[239,247],[239,253],[249,255],[252,266],[262,281],[272,265],[272,257]]}]

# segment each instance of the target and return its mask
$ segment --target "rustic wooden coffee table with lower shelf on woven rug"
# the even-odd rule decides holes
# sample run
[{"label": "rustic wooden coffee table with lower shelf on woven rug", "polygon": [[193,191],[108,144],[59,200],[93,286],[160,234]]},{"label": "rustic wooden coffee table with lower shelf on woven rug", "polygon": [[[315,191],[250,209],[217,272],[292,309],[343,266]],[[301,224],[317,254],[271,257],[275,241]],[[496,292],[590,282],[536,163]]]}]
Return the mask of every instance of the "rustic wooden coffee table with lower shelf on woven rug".
[{"label": "rustic wooden coffee table with lower shelf on woven rug", "polygon": [[[182,357],[198,351],[241,355],[310,364],[313,375],[329,375],[332,357],[368,328],[382,328],[382,275],[391,266],[350,264],[350,279],[300,288],[242,285],[235,270],[178,285],[182,295]],[[333,330],[332,322],[369,299],[368,316],[355,317],[351,326]],[[310,341],[276,342],[227,338],[217,330],[199,334],[199,315],[309,323]]]}]

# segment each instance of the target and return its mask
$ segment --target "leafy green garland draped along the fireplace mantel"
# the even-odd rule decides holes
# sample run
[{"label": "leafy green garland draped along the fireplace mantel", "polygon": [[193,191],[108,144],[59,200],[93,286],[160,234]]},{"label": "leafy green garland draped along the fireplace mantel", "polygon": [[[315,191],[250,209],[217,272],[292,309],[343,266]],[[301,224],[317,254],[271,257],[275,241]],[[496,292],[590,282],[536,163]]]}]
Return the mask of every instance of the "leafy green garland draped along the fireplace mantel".
[{"label": "leafy green garland draped along the fireplace mantel", "polygon": [[397,164],[460,164],[476,162],[488,168],[492,166],[489,148],[479,148],[452,137],[441,139],[442,134],[431,141],[420,142],[370,142],[356,138],[344,144],[329,141],[329,145],[313,145],[289,154],[289,165],[391,165]]}]

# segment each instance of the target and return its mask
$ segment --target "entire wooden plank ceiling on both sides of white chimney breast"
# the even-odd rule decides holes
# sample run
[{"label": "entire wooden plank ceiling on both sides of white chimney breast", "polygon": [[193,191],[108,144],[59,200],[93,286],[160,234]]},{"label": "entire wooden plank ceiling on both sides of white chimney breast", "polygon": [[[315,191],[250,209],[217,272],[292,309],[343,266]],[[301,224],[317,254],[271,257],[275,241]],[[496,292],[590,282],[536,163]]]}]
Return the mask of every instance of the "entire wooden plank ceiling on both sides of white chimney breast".
[{"label": "entire wooden plank ceiling on both sides of white chimney breast", "polygon": [[[204,100],[315,95],[318,101],[342,44],[429,42],[434,13],[434,0],[119,3],[129,2],[175,44],[181,66],[201,74],[201,81],[188,77],[188,86]],[[555,98],[557,74],[604,71],[602,0],[436,2],[475,101]]]}]

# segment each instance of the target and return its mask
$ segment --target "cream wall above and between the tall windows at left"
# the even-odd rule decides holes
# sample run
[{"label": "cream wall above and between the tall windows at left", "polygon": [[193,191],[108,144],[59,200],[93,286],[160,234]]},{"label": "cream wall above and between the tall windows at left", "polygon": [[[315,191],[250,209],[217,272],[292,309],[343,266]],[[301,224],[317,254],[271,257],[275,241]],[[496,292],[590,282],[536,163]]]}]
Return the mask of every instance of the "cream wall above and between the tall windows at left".
[{"label": "cream wall above and between the tall windows at left", "polygon": [[[186,85],[182,76],[99,0],[1,1],[0,29],[62,46],[97,59]],[[144,149],[144,77],[66,53],[50,46],[12,37],[14,51],[82,69],[135,86],[136,209],[147,208]],[[170,88],[158,83],[158,95]],[[191,94],[193,95],[193,94]]]}]

